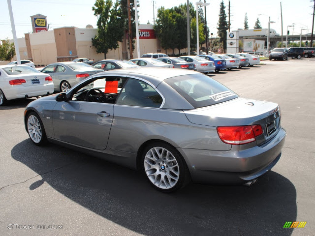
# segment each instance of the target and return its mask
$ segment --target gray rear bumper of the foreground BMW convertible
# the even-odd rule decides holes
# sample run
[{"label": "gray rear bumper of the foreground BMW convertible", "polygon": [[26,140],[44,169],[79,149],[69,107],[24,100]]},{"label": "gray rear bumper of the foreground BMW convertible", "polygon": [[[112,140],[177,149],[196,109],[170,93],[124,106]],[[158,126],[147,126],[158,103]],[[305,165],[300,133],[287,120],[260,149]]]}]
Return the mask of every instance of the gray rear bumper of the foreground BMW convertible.
[{"label": "gray rear bumper of the foreground BMW convertible", "polygon": [[268,143],[229,151],[178,149],[186,160],[192,180],[199,183],[241,184],[260,177],[280,159],[285,131],[280,128]]}]

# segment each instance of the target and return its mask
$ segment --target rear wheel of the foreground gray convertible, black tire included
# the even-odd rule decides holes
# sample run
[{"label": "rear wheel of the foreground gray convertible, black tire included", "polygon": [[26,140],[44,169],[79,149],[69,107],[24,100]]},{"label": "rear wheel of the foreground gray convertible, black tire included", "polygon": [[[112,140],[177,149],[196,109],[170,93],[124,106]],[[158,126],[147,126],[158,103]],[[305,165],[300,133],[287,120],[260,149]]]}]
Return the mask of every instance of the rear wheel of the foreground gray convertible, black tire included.
[{"label": "rear wheel of the foreground gray convertible, black tire included", "polygon": [[189,181],[189,171],[179,152],[169,144],[155,142],[148,145],[142,156],[143,170],[154,188],[173,192]]}]

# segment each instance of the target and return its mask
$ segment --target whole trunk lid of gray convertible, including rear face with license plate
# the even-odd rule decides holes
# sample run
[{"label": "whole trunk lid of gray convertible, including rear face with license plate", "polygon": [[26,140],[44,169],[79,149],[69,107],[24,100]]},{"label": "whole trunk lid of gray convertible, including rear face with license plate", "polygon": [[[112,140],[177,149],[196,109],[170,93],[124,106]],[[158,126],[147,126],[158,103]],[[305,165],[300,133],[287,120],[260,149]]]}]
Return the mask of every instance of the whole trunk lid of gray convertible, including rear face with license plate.
[{"label": "whole trunk lid of gray convertible, including rear face with license plate", "polygon": [[221,104],[194,110],[184,110],[187,119],[194,124],[205,126],[245,126],[261,125],[263,134],[256,137],[257,145],[262,145],[280,129],[278,104],[236,98]]}]

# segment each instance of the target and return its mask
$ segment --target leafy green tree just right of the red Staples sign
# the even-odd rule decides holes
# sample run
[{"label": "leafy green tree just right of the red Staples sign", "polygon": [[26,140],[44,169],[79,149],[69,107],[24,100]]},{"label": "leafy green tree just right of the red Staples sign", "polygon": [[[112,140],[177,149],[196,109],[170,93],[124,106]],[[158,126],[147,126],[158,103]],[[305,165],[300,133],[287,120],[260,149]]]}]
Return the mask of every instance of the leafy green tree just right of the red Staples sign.
[{"label": "leafy green tree just right of the red Staples sign", "polygon": [[153,27],[162,48],[165,49],[165,53],[167,53],[168,48],[173,49],[174,53],[174,49],[176,48],[175,17],[176,12],[174,9],[165,9],[164,7],[157,9],[157,20]]}]

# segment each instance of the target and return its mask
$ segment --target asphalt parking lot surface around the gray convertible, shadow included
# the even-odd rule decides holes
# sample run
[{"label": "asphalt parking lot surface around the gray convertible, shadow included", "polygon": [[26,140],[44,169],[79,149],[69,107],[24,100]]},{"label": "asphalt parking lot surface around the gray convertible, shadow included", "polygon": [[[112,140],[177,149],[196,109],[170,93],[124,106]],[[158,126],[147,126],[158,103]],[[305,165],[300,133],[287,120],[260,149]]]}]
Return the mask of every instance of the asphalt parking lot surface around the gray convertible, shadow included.
[{"label": "asphalt parking lot surface around the gray convertible, shadow included", "polygon": [[250,188],[190,184],[163,194],[136,171],[33,145],[23,123],[32,99],[0,107],[0,235],[315,235],[315,59],[263,63],[209,74],[242,97],[280,104],[282,157]]}]

